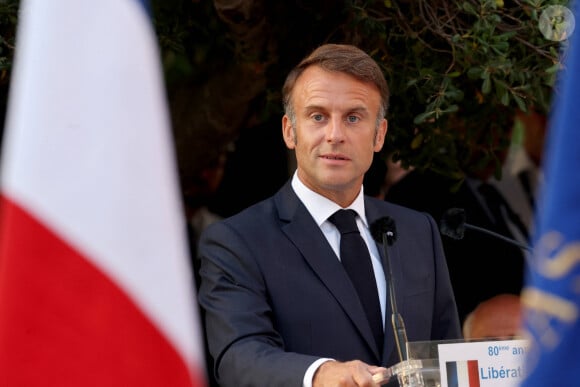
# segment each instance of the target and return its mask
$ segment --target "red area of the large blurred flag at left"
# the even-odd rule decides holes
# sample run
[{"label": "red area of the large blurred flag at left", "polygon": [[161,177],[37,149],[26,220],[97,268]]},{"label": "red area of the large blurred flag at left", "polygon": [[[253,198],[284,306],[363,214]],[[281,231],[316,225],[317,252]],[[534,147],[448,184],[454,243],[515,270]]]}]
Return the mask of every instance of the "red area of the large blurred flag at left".
[{"label": "red area of the large blurred flag at left", "polygon": [[0,386],[191,385],[115,283],[17,204],[0,205]]}]

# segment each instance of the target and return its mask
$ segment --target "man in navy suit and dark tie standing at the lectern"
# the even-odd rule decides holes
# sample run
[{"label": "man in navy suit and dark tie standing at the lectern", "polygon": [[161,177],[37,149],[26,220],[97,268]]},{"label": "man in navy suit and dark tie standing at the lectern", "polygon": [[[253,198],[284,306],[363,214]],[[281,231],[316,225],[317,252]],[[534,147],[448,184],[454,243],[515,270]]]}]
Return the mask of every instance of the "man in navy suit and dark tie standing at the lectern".
[{"label": "man in navy suit and dark tie standing at the lectern", "polygon": [[[288,75],[282,135],[296,154],[294,175],[272,197],[209,226],[200,240],[199,302],[220,385],[378,385],[384,367],[400,361],[387,257],[370,232],[385,217],[396,225],[389,257],[409,341],[461,337],[434,220],[363,192],[387,133],[388,94],[378,65],[349,45],[323,45]],[[367,318],[367,299],[341,264],[347,237],[332,220],[341,209],[356,212],[382,341]]]}]

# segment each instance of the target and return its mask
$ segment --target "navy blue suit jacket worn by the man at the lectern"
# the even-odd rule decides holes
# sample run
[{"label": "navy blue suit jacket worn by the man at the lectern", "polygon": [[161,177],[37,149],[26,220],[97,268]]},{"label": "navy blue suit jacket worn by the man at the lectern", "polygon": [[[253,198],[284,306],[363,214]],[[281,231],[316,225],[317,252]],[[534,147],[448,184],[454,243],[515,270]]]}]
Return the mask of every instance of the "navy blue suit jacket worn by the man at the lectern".
[{"label": "navy blue suit jacket worn by the man at the lectern", "polygon": [[[365,209],[369,224],[384,216],[396,223],[389,256],[409,341],[460,338],[431,216],[371,197],[365,197]],[[384,260],[382,245],[377,247]],[[199,253],[199,302],[220,385],[301,386],[320,357],[383,366],[399,361],[390,306],[379,353],[354,287],[290,181],[274,196],[209,226]]]}]

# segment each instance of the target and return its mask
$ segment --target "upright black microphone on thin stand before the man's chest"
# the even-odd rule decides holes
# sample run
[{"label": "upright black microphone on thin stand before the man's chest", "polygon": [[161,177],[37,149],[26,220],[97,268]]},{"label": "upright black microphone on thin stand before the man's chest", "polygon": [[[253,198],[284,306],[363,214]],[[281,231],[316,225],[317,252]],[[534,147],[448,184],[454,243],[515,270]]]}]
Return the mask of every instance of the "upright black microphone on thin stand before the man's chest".
[{"label": "upright black microphone on thin stand before the man's chest", "polygon": [[407,355],[407,330],[405,329],[405,322],[403,321],[403,316],[399,314],[399,309],[397,308],[397,298],[395,297],[395,276],[393,275],[393,269],[391,267],[391,259],[389,257],[388,247],[392,246],[397,239],[397,233],[395,228],[395,221],[389,217],[385,216],[379,218],[373,224],[371,224],[371,235],[373,239],[383,245],[383,251],[385,253],[385,264],[386,264],[386,274],[387,274],[387,285],[389,287],[389,301],[391,303],[391,309],[393,314],[391,315],[391,321],[393,324],[393,332],[395,334],[395,343],[397,344],[397,351],[399,354],[399,360],[404,361],[408,359]]}]

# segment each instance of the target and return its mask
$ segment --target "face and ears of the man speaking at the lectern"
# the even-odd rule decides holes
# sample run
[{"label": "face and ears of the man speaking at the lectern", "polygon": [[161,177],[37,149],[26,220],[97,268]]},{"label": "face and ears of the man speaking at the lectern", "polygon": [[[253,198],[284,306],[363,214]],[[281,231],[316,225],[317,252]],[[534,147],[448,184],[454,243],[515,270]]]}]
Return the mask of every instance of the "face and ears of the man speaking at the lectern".
[{"label": "face and ears of the man speaking at the lectern", "polygon": [[354,200],[385,140],[387,121],[377,128],[380,103],[374,85],[317,66],[304,71],[292,94],[296,127],[284,116],[282,131],[307,187],[344,206]]}]

